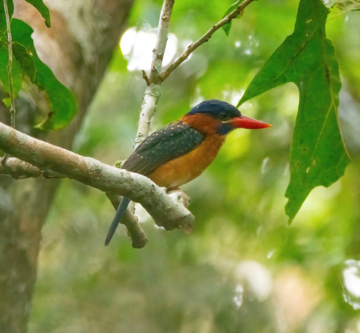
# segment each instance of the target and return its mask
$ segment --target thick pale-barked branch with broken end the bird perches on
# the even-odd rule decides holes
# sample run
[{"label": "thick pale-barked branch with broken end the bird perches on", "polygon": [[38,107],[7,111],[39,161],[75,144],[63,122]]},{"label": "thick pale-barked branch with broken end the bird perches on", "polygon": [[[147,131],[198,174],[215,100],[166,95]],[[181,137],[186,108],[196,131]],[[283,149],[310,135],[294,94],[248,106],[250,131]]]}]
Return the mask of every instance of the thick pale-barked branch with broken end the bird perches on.
[{"label": "thick pale-barked branch with broken end the bird perches on", "polygon": [[52,170],[92,186],[141,203],[159,226],[167,230],[178,226],[191,228],[194,217],[181,199],[166,194],[149,178],[101,163],[94,158],[75,154],[54,146],[0,122],[0,148],[4,152],[31,163],[41,170]]}]

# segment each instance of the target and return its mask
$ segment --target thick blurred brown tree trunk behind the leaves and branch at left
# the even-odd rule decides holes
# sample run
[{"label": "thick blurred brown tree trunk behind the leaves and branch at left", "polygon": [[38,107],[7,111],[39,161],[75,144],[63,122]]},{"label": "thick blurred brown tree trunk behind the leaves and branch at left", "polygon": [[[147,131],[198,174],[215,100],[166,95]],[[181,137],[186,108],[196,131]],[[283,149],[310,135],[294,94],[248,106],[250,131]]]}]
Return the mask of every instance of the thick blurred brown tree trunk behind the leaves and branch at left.
[{"label": "thick blurred brown tree trunk behind the leaves and branch at left", "polygon": [[[23,0],[14,1],[14,17],[28,23],[40,59],[73,91],[78,113],[66,129],[45,134],[33,129],[36,114],[46,108],[37,89],[24,89],[16,102],[17,129],[64,148],[73,138],[125,29],[134,0],[49,0],[51,28]],[[31,91],[33,90],[33,91]],[[2,103],[1,103],[2,104]],[[0,121],[9,123],[0,106]],[[0,330],[26,332],[41,227],[59,180],[0,178]]]}]

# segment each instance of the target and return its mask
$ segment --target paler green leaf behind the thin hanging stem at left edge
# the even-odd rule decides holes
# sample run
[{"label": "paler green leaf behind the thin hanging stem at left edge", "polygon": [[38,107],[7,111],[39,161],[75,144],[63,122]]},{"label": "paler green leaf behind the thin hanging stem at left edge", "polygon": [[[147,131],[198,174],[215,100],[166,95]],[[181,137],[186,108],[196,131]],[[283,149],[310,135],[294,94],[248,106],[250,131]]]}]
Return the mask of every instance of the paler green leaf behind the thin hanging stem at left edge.
[{"label": "paler green leaf behind the thin hanging stem at left edge", "polygon": [[[8,73],[8,62],[9,62],[9,49],[8,44],[5,42],[5,39],[0,40],[0,80],[3,82],[4,91],[9,96],[3,98],[3,102],[6,107],[10,107],[10,81],[9,81],[9,73]],[[13,57],[13,65],[12,65],[12,77],[13,77],[13,95],[14,98],[17,97],[19,90],[21,88],[21,83],[23,80],[23,69],[18,64],[16,59]]]}]

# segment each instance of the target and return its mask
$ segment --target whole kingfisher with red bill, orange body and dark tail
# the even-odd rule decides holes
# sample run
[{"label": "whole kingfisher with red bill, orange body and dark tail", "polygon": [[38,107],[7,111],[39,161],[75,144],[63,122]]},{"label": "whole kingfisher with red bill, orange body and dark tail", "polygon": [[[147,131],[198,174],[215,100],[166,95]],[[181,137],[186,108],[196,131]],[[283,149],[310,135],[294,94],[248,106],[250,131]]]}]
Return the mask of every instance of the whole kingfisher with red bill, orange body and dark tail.
[{"label": "whole kingfisher with red bill, orange body and dark tail", "polygon": [[[233,105],[211,99],[201,102],[180,120],[150,134],[122,168],[150,178],[156,185],[176,189],[201,175],[237,128],[264,129],[271,125],[244,117]],[[130,199],[122,197],[105,240],[107,246]]]}]

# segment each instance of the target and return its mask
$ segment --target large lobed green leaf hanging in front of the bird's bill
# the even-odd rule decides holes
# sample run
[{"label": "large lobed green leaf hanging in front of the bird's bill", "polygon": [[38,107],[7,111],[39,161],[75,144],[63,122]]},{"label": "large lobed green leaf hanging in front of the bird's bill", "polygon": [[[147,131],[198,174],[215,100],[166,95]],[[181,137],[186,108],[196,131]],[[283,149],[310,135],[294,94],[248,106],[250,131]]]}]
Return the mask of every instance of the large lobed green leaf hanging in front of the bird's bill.
[{"label": "large lobed green leaf hanging in front of the bird's bill", "polygon": [[253,78],[239,104],[285,82],[294,82],[300,102],[290,156],[289,223],[316,186],[330,186],[350,162],[337,122],[341,88],[334,48],[325,35],[328,10],[319,0],[301,0],[295,29]]}]

